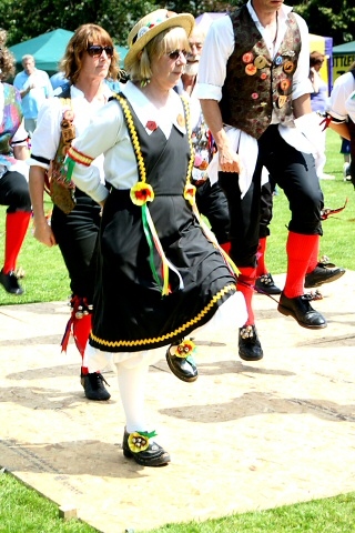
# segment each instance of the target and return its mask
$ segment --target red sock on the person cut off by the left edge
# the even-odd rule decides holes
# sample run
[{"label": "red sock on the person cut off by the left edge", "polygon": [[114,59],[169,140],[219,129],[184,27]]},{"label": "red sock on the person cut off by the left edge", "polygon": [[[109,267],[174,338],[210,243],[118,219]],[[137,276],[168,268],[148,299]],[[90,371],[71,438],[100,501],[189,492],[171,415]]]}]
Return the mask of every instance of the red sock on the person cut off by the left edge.
[{"label": "red sock on the person cut off by the left edge", "polygon": [[7,213],[4,263],[2,269],[4,274],[16,270],[18,257],[30,223],[30,218],[31,213],[28,211]]}]

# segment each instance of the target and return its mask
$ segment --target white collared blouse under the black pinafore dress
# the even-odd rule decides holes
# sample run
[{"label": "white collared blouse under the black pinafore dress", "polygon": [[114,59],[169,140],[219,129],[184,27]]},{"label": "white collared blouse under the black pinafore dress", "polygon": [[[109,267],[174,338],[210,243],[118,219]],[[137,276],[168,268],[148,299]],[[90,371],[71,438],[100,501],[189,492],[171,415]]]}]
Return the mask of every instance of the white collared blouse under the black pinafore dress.
[{"label": "white collared blouse under the black pinafore dress", "polygon": [[[159,112],[131,81],[122,84],[122,92],[130,101],[149,134],[152,133],[146,128],[149,121],[154,121],[166,139],[169,139],[173,125],[183,133],[186,132],[185,127],[178,123],[178,117],[183,115],[184,111],[181,99],[175,91],[171,91],[170,102],[162,112]],[[72,145],[91,158],[97,158],[103,153],[105,180],[115,189],[131,189],[139,180],[130,134],[122,108],[118,102],[111,101],[104,105],[93,118],[90,128],[77,138]],[[77,163],[72,180],[79,189],[90,194],[97,202],[103,201],[109,194],[108,189],[100,182],[97,169],[92,164],[84,167]]]}]

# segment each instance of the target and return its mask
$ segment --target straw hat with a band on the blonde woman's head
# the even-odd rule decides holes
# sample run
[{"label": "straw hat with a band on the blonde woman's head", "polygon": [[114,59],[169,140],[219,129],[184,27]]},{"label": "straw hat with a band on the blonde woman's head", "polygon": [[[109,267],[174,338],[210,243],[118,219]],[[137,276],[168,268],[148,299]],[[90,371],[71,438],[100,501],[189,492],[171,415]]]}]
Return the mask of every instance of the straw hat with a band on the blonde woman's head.
[{"label": "straw hat with a band on the blonde woman's head", "polygon": [[124,68],[128,70],[135,61],[138,53],[151,41],[155,36],[168,28],[183,28],[187,37],[193,30],[194,18],[190,13],[175,13],[166,9],[158,9],[152,13],[143,17],[130,31],[128,43],[130,50],[124,58]]}]

